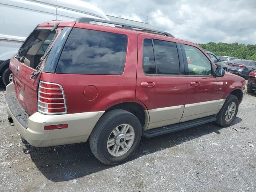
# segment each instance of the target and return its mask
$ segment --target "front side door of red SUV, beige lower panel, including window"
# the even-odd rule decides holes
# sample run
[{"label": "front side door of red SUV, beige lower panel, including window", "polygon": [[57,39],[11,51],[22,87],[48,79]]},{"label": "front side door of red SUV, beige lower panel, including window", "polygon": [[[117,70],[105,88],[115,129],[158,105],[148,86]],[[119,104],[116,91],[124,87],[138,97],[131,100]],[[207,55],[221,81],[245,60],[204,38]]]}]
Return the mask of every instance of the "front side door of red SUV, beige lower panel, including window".
[{"label": "front side door of red SUV, beige lower panel, including window", "polygon": [[193,44],[181,44],[188,81],[188,94],[180,122],[218,113],[225,100],[223,78],[214,77],[215,68],[210,59]]}]

